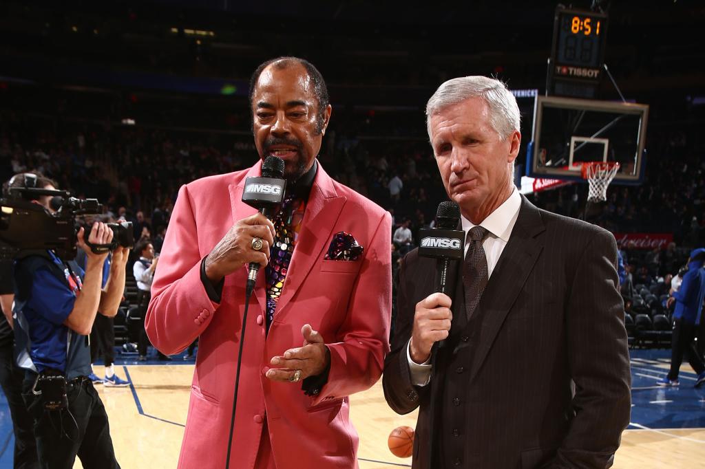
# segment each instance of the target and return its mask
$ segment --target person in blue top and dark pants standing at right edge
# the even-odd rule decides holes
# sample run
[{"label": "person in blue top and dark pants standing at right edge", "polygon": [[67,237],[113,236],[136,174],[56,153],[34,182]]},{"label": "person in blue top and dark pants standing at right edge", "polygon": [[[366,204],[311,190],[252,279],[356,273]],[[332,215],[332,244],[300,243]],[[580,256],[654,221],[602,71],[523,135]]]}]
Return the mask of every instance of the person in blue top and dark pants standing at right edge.
[{"label": "person in blue top and dark pants standing at right edge", "polygon": [[668,299],[667,306],[675,302],[672,354],[670,372],[663,380],[658,381],[659,386],[678,386],[678,371],[683,361],[683,354],[687,355],[690,366],[697,373],[695,387],[700,387],[705,382],[705,363],[693,343],[702,320],[701,313],[703,299],[705,299],[704,263],[705,249],[692,251],[688,259],[688,271],[683,275],[683,282],[678,291],[673,292]]}]

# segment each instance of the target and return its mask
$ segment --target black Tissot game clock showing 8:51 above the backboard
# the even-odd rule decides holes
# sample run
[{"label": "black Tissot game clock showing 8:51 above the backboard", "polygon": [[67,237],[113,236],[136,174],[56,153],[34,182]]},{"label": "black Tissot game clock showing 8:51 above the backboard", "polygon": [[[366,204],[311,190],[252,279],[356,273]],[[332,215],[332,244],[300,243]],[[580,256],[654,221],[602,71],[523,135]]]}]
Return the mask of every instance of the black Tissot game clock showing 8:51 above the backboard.
[{"label": "black Tissot game clock showing 8:51 above the backboard", "polygon": [[598,82],[607,39],[607,15],[556,8],[553,76]]}]

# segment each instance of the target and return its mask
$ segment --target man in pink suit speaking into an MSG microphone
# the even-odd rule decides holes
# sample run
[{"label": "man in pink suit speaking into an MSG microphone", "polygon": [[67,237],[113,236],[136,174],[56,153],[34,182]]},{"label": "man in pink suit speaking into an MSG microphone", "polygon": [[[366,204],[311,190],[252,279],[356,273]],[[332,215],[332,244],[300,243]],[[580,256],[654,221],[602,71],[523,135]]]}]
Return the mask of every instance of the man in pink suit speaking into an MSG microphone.
[{"label": "man in pink suit speaking into an MSG microphone", "polygon": [[[175,354],[200,337],[179,468],[356,468],[348,396],[379,379],[389,348],[391,217],[317,162],[331,106],[313,65],[263,63],[250,104],[259,157],[286,163],[281,211],[241,201],[261,161],[181,187],[152,284],[152,344]],[[262,268],[243,338],[250,262]]]}]

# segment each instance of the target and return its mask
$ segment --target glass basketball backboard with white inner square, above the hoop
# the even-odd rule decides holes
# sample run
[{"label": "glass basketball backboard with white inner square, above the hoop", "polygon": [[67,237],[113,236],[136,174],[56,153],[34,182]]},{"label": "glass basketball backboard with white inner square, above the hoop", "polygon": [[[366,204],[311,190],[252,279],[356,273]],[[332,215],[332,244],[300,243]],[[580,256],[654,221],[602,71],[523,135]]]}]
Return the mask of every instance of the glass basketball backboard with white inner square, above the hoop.
[{"label": "glass basketball backboard with white inner square, above the hoop", "polygon": [[527,175],[587,182],[582,163],[619,163],[613,184],[644,180],[645,104],[537,96]]}]

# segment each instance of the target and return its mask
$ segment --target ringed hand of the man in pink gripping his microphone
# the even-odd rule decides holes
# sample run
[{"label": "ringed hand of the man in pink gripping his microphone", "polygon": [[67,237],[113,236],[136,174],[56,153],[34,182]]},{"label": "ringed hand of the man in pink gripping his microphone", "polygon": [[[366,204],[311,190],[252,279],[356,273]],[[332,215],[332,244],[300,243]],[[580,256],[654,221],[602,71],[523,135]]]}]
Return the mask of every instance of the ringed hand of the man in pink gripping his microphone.
[{"label": "ringed hand of the man in pink gripping his microphone", "polygon": [[[252,249],[252,239],[262,239],[262,249]],[[264,267],[269,262],[269,246],[274,243],[274,225],[262,215],[238,220],[206,258],[206,276],[211,282],[220,280],[250,262]]]}]

